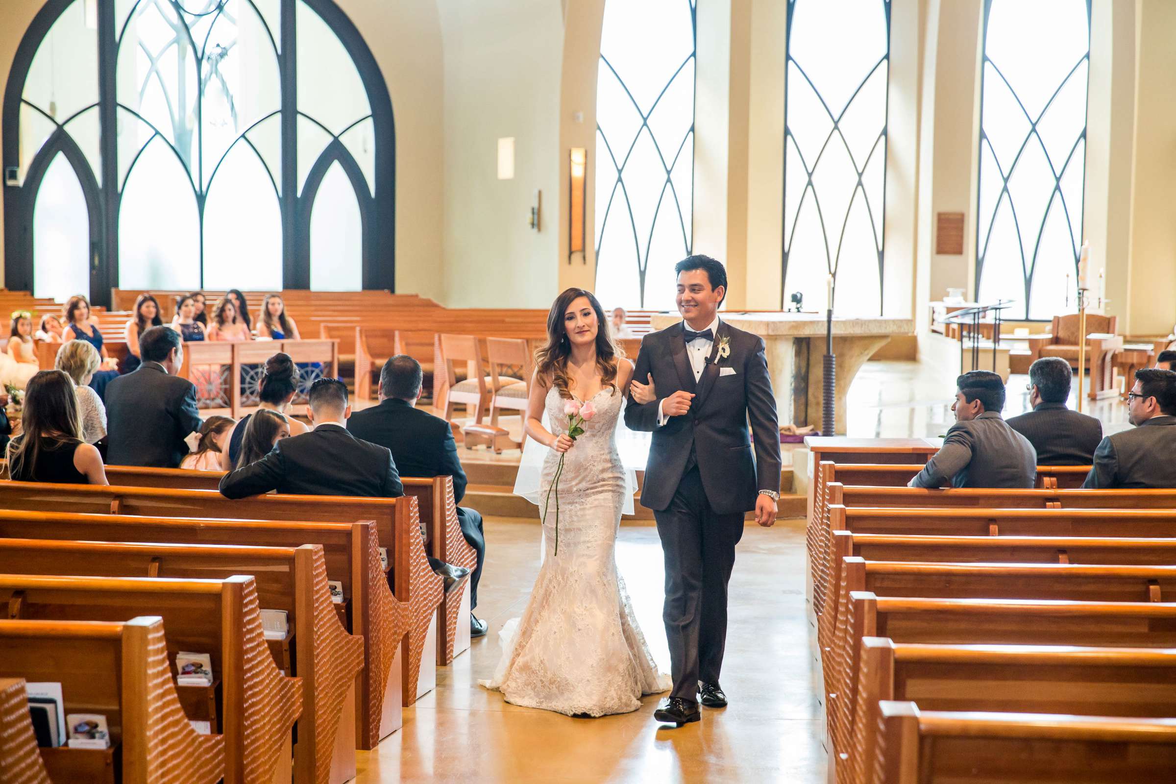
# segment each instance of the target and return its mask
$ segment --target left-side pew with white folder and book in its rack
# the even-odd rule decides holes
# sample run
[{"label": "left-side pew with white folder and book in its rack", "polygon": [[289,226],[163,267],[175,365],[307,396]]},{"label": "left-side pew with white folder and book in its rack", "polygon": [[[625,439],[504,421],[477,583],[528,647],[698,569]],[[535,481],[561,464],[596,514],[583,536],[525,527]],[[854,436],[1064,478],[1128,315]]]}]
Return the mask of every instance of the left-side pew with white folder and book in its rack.
[{"label": "left-side pew with white folder and book in its rack", "polygon": [[225,775],[225,737],[188,723],[172,681],[163,622],[0,622],[0,677],[59,682],[68,713],[102,713],[112,749],[42,749],[54,782],[215,784]]}]

